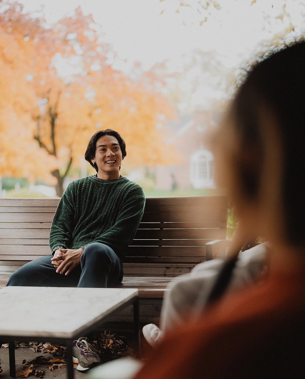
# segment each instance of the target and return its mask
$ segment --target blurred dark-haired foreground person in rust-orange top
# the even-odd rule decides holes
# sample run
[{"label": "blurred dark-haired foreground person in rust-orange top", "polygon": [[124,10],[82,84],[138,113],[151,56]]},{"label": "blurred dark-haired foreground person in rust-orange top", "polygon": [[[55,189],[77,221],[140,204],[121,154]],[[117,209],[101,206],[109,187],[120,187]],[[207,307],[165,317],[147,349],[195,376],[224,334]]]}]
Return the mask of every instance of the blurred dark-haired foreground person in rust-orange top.
[{"label": "blurred dark-haired foreground person in rust-orange top", "polygon": [[[218,185],[240,221],[200,319],[164,335],[136,379],[305,377],[305,42],[265,55],[212,139]],[[245,241],[269,241],[268,271],[224,294]]]}]

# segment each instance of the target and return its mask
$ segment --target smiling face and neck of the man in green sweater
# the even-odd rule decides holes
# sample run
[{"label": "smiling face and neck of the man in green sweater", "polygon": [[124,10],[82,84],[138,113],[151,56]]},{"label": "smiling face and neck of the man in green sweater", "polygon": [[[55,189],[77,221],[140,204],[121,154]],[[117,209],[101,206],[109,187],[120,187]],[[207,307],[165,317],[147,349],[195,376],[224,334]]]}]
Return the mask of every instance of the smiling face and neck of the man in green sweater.
[{"label": "smiling face and neck of the man in green sweater", "polygon": [[119,141],[113,136],[102,136],[96,142],[95,156],[91,160],[98,165],[98,177],[106,180],[118,179],[122,161]]}]

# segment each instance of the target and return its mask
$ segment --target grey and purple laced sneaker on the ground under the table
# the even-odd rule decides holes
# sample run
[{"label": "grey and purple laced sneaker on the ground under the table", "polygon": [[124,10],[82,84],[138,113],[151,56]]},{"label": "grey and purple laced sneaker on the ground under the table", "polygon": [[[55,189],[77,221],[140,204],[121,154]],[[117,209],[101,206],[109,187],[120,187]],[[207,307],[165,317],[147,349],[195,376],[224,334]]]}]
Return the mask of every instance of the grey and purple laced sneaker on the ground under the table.
[{"label": "grey and purple laced sneaker on the ground under the table", "polygon": [[73,363],[78,363],[76,370],[85,371],[90,368],[93,363],[99,363],[99,353],[94,347],[88,343],[87,337],[79,337],[73,341]]}]

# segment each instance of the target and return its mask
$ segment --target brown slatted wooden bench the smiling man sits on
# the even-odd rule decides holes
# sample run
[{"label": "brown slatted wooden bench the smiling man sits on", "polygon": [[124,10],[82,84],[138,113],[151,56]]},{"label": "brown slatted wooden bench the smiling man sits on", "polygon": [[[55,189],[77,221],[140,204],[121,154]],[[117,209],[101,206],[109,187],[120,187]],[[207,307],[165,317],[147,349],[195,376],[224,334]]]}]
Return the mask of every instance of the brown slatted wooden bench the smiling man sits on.
[{"label": "brown slatted wooden bench the smiling man sits on", "polygon": [[[59,199],[0,199],[0,287],[11,273],[50,254],[49,233]],[[138,288],[142,322],[157,322],[166,285],[212,257],[226,238],[226,196],[152,197],[124,261],[123,288]],[[122,320],[124,315],[122,315]]]}]

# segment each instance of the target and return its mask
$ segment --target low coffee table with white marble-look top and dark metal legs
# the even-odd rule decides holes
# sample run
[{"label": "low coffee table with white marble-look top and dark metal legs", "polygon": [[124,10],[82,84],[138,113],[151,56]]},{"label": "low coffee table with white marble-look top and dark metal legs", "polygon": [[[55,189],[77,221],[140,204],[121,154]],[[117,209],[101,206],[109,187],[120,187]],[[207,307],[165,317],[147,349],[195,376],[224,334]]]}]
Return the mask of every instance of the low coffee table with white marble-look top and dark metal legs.
[{"label": "low coffee table with white marble-look top and dark metal legs", "polygon": [[5,287],[0,289],[0,339],[9,342],[9,374],[15,376],[15,340],[50,341],[67,346],[68,379],[73,379],[73,340],[102,326],[133,304],[136,343],[138,290],[133,288]]}]

